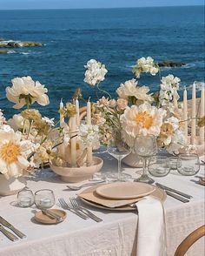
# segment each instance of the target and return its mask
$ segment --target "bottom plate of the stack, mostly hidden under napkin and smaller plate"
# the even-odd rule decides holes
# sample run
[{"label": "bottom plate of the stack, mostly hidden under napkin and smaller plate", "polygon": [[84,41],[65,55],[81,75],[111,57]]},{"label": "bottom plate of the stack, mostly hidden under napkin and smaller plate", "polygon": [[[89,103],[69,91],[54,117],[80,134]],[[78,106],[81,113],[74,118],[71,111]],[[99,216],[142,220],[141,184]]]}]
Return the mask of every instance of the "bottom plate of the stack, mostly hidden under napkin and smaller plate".
[{"label": "bottom plate of the stack, mostly hidden under napkin and smaller plate", "polygon": [[[87,188],[86,190],[89,190],[89,188]],[[86,190],[84,190],[83,192],[86,192]],[[155,197],[156,199],[161,200],[161,202],[164,202],[167,199],[167,194],[166,192],[164,192],[164,190],[162,190],[161,188],[156,188],[154,192],[152,192],[150,194],[150,196]],[[94,202],[90,202],[89,200],[83,199],[81,197],[79,197],[79,199],[81,199],[83,201],[83,203],[85,203],[86,205],[90,205],[99,209],[104,209],[104,210],[110,210],[110,211],[136,211],[136,207],[132,207],[129,205],[124,205],[121,207],[116,207],[116,208],[109,208],[103,205],[99,205],[99,204],[95,204]]]}]

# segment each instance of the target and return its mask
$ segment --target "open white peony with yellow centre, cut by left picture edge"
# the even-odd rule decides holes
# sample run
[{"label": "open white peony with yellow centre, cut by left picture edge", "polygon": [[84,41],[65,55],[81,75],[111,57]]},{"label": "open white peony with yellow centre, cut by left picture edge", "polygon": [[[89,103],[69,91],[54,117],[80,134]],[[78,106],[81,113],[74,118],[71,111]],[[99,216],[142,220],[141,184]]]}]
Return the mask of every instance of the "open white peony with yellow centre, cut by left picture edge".
[{"label": "open white peony with yellow centre, cut by left picture edge", "polygon": [[22,175],[30,166],[27,157],[31,142],[21,138],[21,132],[0,130],[0,166],[7,179]]}]

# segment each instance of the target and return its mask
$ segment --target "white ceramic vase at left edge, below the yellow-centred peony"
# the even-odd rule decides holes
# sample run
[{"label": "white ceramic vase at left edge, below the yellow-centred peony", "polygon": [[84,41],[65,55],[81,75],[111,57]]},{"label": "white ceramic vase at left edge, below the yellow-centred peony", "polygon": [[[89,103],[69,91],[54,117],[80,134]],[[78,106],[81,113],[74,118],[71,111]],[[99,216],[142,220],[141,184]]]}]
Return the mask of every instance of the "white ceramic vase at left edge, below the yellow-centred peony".
[{"label": "white ceramic vase at left edge, below the yellow-centred peony", "polygon": [[5,179],[3,174],[0,174],[0,196],[9,196],[17,194],[26,186],[26,180],[23,177]]}]

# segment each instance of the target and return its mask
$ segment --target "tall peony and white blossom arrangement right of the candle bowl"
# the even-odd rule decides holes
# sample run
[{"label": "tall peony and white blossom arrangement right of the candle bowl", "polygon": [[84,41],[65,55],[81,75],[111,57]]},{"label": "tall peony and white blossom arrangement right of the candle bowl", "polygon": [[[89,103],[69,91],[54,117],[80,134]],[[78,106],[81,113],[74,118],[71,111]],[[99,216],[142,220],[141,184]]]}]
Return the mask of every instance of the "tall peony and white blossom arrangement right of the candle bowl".
[{"label": "tall peony and white blossom arrangement right of the candle bowl", "polygon": [[[89,62],[94,63],[94,60]],[[104,65],[98,64],[98,66]],[[87,67],[87,66],[86,66]],[[137,60],[133,68],[136,78],[142,73],[155,76],[160,68],[151,57],[142,57]],[[101,74],[100,70],[89,71]],[[102,72],[104,75],[106,72]],[[103,80],[103,75],[101,79]],[[85,80],[90,85],[99,83],[90,80],[87,71]],[[139,85],[136,78],[128,80],[116,89],[117,98],[99,98],[93,104],[93,118],[95,125],[99,126],[102,143],[106,143],[116,132],[122,131],[122,138],[131,147],[134,146],[137,134],[153,134],[157,138],[159,148],[168,152],[178,152],[186,145],[186,138],[182,124],[182,106],[177,103],[180,79],[169,75],[161,78],[158,94],[149,93],[148,86]],[[96,82],[96,84],[94,82]],[[102,91],[102,90],[101,90]]]}]

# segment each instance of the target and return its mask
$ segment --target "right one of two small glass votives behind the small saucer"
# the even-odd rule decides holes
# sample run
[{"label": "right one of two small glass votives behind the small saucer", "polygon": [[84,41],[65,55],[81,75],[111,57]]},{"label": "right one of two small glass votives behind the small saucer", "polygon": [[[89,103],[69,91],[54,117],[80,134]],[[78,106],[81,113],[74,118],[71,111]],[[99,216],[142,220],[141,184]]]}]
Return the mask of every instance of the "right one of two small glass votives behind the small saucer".
[{"label": "right one of two small glass votives behind the small saucer", "polygon": [[35,205],[39,209],[49,209],[55,205],[54,192],[50,189],[42,189],[35,192]]}]

